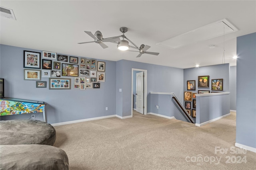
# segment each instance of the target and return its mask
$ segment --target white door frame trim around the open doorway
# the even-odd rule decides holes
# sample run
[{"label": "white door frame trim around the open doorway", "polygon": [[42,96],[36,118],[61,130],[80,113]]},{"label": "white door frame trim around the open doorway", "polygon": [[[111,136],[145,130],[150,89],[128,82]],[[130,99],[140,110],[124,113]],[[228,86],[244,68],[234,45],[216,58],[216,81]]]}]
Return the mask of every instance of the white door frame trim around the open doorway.
[{"label": "white door frame trim around the open doorway", "polygon": [[[148,94],[148,90],[147,90],[147,77],[148,77],[148,70],[143,70],[143,69],[138,69],[138,68],[132,68],[132,105],[131,105],[131,110],[133,111],[133,72],[134,71],[141,71],[141,72],[144,72],[144,115],[147,115],[147,94]],[[132,117],[133,117],[133,113],[131,113]]]}]

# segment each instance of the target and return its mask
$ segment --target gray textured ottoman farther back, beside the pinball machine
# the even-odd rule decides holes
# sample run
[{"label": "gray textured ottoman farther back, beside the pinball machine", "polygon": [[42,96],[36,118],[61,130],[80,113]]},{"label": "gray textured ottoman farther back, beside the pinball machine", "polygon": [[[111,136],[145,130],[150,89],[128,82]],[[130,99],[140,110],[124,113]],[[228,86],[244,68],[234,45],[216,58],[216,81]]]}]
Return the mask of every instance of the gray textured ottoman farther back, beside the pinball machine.
[{"label": "gray textured ottoman farther back, beside the pinball machine", "polygon": [[56,139],[54,127],[39,120],[0,121],[0,145],[53,145]]}]

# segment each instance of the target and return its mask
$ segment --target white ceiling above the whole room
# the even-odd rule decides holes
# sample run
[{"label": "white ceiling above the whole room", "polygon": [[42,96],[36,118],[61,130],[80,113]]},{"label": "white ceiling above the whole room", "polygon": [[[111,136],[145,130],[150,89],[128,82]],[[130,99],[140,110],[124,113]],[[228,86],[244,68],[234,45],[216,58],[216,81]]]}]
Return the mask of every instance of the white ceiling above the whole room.
[{"label": "white ceiling above the whole room", "polygon": [[[256,32],[255,0],[1,0],[0,6],[12,9],[16,17],[16,20],[0,18],[1,44],[93,59],[126,59],[177,68],[222,63],[234,66],[236,60],[232,57],[236,55],[236,37]],[[178,49],[157,45],[224,18],[238,31]],[[96,43],[77,44],[93,41],[84,31],[93,34],[101,31],[103,38],[107,38],[122,35],[120,27],[128,28],[125,35],[133,43],[149,45],[151,48],[147,51],[160,54],[143,54],[136,58],[139,53],[120,51],[115,43],[106,42],[106,49]],[[216,48],[210,49],[209,45],[216,45]]]}]

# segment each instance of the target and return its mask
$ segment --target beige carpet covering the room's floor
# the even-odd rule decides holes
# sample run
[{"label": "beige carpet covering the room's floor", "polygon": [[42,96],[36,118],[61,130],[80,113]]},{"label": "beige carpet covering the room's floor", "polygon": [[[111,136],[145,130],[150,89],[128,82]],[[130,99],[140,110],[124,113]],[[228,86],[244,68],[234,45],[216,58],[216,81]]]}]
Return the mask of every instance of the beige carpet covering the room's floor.
[{"label": "beige carpet covering the room's floor", "polygon": [[[202,127],[134,112],[129,119],[112,117],[55,129],[54,146],[66,151],[70,170],[256,169],[256,153],[232,152],[235,113]],[[215,153],[215,147],[228,150]]]}]

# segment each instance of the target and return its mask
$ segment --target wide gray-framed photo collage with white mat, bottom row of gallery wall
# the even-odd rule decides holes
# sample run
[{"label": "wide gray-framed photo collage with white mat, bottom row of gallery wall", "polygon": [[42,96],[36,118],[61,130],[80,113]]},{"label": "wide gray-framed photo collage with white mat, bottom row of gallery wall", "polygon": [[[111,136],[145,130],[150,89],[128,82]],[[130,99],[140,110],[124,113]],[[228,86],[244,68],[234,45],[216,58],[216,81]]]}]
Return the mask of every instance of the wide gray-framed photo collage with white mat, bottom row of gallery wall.
[{"label": "wide gray-framed photo collage with white mat, bottom row of gallery wall", "polygon": [[49,89],[71,89],[70,78],[49,78]]}]

